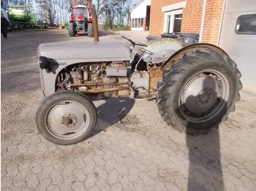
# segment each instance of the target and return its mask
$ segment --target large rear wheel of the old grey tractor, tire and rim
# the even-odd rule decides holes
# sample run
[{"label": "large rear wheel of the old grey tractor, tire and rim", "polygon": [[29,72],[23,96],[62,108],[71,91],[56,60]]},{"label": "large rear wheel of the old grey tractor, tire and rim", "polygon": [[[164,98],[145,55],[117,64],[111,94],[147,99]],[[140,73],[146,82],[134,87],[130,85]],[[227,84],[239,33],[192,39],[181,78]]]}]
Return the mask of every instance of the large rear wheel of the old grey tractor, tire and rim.
[{"label": "large rear wheel of the old grey tractor, tire and rim", "polygon": [[157,85],[159,113],[177,130],[207,132],[235,110],[241,73],[227,55],[196,50],[174,62]]}]

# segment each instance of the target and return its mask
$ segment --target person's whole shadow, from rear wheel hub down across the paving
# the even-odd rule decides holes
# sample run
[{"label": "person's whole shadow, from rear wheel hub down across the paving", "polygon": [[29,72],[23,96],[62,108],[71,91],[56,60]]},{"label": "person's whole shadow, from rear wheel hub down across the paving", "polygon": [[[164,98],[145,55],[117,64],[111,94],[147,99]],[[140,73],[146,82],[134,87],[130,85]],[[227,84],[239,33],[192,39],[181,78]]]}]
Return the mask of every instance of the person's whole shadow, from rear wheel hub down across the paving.
[{"label": "person's whole shadow, from rear wheel hub down across the paving", "polygon": [[[208,90],[211,90],[212,93],[209,94]],[[224,190],[218,128],[223,115],[227,113],[227,103],[217,95],[219,95],[217,85],[209,84],[205,79],[200,93],[197,96],[189,95],[183,106],[187,117],[187,131],[194,135],[199,133],[199,136],[193,136],[192,133],[187,132],[186,136],[189,149],[188,191]],[[190,110],[186,109],[186,106],[190,107]],[[189,114],[192,109],[198,112],[200,110],[202,113]],[[210,130],[212,124],[215,124],[214,130]],[[191,131],[192,127],[194,130]],[[210,131],[208,132],[208,130]]]}]

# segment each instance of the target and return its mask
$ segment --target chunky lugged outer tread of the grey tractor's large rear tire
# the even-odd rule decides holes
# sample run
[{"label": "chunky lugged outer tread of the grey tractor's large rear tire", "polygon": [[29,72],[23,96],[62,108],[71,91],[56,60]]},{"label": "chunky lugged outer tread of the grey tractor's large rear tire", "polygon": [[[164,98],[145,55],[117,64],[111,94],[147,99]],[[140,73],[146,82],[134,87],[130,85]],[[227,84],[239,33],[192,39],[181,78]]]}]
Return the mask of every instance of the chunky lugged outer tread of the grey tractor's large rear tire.
[{"label": "chunky lugged outer tread of the grey tractor's large rear tire", "polygon": [[[162,81],[157,85],[157,105],[159,114],[168,125],[173,126],[176,130],[187,130],[187,127],[184,122],[178,120],[178,116],[176,116],[174,105],[172,101],[170,101],[170,98],[172,98],[172,96],[174,97],[178,82],[184,78],[184,74],[186,74],[187,71],[200,66],[203,63],[207,63],[208,61],[223,63],[225,64],[224,67],[236,73],[236,87],[234,88],[236,95],[234,95],[234,100],[222,119],[227,119],[227,115],[230,112],[235,111],[235,103],[240,99],[238,91],[242,88],[240,81],[241,73],[236,68],[236,63],[234,63],[227,55],[223,55],[221,52],[215,50],[196,50],[195,52],[184,55],[180,60],[174,62],[170,66],[170,69],[164,71]],[[213,124],[207,129],[203,128],[203,130],[208,130],[217,125],[219,124]],[[192,128],[192,130],[198,130],[198,128]]]}]

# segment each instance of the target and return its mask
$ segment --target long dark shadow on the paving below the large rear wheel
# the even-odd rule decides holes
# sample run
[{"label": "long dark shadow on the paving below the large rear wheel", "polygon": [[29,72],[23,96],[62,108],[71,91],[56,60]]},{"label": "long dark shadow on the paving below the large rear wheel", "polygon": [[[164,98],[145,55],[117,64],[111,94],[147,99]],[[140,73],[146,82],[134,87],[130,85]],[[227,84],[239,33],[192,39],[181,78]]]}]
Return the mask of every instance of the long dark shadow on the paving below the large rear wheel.
[{"label": "long dark shadow on the paving below the large rear wheel", "polygon": [[187,190],[224,190],[219,130],[197,137],[187,133],[186,140],[189,149]]}]

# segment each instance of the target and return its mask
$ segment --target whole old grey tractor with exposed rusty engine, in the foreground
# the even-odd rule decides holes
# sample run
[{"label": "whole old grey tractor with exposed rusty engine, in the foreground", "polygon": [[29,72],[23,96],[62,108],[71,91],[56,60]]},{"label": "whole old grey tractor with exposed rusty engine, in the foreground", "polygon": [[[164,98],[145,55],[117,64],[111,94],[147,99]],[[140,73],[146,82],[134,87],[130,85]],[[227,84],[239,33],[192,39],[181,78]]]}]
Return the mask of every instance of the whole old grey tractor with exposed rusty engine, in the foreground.
[{"label": "whole old grey tractor with exposed rusty engine, in the foreground", "polygon": [[[47,98],[36,114],[42,136],[55,144],[87,139],[97,124],[93,98],[156,98],[177,130],[206,133],[233,112],[241,73],[212,44],[184,47],[176,39],[40,44],[39,74]],[[135,45],[142,46],[131,58]],[[58,48],[57,48],[58,47]]]}]

